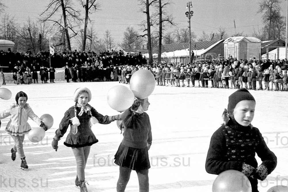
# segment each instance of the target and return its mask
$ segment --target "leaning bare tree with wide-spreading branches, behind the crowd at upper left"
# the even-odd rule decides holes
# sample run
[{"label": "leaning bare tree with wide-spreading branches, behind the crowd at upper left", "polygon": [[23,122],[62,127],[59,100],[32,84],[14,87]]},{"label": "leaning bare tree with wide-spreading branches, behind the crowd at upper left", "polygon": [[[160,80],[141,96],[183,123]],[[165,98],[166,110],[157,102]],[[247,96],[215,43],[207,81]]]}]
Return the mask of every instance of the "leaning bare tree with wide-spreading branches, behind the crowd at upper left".
[{"label": "leaning bare tree with wide-spreading branches, behind the crowd at upper left", "polygon": [[[64,31],[69,50],[71,50],[70,38],[77,35],[77,32],[75,32],[73,28],[78,27],[79,22],[82,21],[82,18],[80,18],[80,11],[75,10],[73,6],[71,0],[51,0],[47,9],[40,14],[40,16],[43,17],[41,19],[42,21],[52,21],[54,23],[53,26],[57,26],[60,31]],[[59,12],[60,16],[57,15]],[[72,37],[69,37],[68,29],[74,33]],[[65,40],[64,37],[63,40]]]}]

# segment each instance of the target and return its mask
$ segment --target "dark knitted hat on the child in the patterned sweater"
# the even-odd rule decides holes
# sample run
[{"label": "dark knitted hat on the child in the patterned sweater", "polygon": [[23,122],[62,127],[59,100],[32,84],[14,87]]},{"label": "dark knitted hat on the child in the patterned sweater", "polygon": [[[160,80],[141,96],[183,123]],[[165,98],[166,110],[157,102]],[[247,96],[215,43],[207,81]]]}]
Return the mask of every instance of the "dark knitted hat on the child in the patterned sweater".
[{"label": "dark knitted hat on the child in the patterned sweater", "polygon": [[[239,103],[242,100],[253,100],[255,101],[254,97],[249,93],[249,91],[245,88],[238,89],[234,93],[232,93],[229,96],[228,99],[228,112],[229,114],[232,114],[232,111],[234,110],[237,103]],[[256,101],[255,101],[256,102]]]}]

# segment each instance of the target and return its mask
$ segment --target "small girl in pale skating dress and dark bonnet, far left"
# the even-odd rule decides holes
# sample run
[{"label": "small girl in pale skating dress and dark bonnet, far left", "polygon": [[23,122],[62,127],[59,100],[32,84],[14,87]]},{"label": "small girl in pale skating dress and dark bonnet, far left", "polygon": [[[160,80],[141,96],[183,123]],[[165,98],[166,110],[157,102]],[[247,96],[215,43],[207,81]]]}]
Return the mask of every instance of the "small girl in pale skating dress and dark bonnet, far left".
[{"label": "small girl in pale skating dress and dark bonnet, far left", "polygon": [[16,94],[14,103],[9,109],[0,113],[0,119],[10,116],[10,121],[6,125],[5,131],[11,135],[15,144],[11,149],[11,158],[14,161],[16,159],[16,152],[21,159],[21,169],[28,169],[26,162],[23,141],[25,134],[28,134],[31,130],[30,125],[27,123],[28,117],[30,117],[37,125],[47,131],[48,127],[40,120],[40,118],[34,114],[27,102],[27,95],[23,91]]}]

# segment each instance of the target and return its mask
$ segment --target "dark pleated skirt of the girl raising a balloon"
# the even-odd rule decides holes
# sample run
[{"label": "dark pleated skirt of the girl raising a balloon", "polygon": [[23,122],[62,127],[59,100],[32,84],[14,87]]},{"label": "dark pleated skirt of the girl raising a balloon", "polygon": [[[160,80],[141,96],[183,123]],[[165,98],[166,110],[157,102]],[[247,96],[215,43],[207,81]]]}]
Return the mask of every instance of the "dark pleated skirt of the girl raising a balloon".
[{"label": "dark pleated skirt of the girl raising a balloon", "polygon": [[133,148],[120,144],[114,155],[114,163],[121,167],[128,167],[132,170],[145,170],[150,168],[148,149]]}]

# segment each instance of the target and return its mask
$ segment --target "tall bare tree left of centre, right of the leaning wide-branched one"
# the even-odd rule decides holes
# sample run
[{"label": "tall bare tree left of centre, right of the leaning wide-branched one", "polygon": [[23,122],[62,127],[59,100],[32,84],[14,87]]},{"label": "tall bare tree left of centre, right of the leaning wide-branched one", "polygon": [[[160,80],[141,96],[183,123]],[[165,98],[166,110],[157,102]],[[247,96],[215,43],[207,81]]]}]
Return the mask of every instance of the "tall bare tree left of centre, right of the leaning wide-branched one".
[{"label": "tall bare tree left of centre, right of the leaning wide-branched one", "polygon": [[85,9],[85,20],[84,20],[83,42],[82,42],[82,51],[84,51],[86,46],[86,34],[87,34],[89,14],[92,14],[93,12],[99,10],[101,4],[96,2],[96,0],[79,0],[79,1],[83,6],[83,8]]}]

